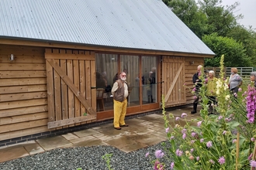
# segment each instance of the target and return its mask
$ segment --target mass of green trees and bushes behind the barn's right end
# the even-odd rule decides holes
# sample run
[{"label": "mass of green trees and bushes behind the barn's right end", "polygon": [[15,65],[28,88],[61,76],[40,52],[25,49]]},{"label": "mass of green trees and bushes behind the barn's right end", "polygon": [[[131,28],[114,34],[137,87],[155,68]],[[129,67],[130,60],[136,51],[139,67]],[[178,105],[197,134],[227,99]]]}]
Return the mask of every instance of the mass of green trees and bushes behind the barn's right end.
[{"label": "mass of green trees and bushes behind the barn's right end", "polygon": [[[226,6],[221,4],[221,0],[199,0],[198,3],[195,0],[163,0],[163,2],[199,39],[213,34],[223,39],[225,37],[233,39],[230,40],[230,46],[227,46],[226,39],[223,40],[225,46],[221,46],[220,42],[214,46],[215,42],[211,42],[209,48],[217,55],[214,59],[206,59],[206,66],[218,66],[220,54],[226,56],[225,62],[228,62],[225,63],[226,66],[256,65],[256,32],[255,29],[246,29],[237,23],[238,19],[243,18],[241,14],[234,15],[240,5],[239,2]],[[245,59],[242,59],[243,57]],[[236,61],[234,65],[233,61]]]}]

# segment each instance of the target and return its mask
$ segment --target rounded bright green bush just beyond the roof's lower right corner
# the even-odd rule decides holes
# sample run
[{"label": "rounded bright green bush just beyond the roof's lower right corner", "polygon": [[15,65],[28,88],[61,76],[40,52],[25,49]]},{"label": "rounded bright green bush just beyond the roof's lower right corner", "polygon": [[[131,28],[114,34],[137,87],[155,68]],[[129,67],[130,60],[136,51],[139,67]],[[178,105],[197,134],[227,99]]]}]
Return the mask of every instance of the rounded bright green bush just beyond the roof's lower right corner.
[{"label": "rounded bright green bush just beyond the roof's lower right corner", "polygon": [[202,41],[216,54],[212,59],[205,59],[205,66],[219,66],[221,55],[225,56],[225,66],[240,67],[251,65],[251,58],[246,55],[243,44],[235,39],[218,36],[213,33],[209,36],[203,36]]}]

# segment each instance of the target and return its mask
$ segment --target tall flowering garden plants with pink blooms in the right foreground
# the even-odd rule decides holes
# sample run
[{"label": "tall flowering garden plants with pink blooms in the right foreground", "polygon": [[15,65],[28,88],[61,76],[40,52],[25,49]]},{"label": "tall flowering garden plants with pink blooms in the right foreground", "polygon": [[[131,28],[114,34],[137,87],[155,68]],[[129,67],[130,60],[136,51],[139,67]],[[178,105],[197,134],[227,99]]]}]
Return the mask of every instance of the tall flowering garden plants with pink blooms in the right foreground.
[{"label": "tall flowering garden plants with pink blooms in the right foreground", "polygon": [[[218,104],[213,104],[216,114],[208,114],[209,99],[206,96],[207,83],[204,75],[199,77],[202,80],[202,87],[199,91],[202,100],[201,117],[187,121],[185,113],[181,117],[174,117],[173,114],[166,115],[163,104],[164,128],[166,128],[168,141],[171,144],[166,145],[168,147],[165,148],[164,155],[170,158],[171,169],[251,168],[248,156],[254,150],[254,143],[250,138],[256,135],[256,124],[247,123],[245,107],[234,107],[238,102],[244,106],[242,100],[246,96],[239,94],[235,97],[236,94],[230,93],[227,85],[228,79],[223,79],[223,61],[224,58],[221,56],[220,78],[216,81]],[[240,114],[235,115],[239,110],[242,110]],[[182,119],[186,122],[183,127],[179,122]],[[244,128],[248,130],[245,133]],[[157,163],[162,165],[158,158]]]}]

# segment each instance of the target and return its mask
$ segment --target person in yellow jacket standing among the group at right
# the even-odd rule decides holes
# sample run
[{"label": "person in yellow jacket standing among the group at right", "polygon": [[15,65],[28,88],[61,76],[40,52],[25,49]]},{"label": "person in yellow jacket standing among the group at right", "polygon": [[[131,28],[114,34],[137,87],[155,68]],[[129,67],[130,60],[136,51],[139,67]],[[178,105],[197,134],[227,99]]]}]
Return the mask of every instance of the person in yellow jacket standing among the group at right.
[{"label": "person in yellow jacket standing among the group at right", "polygon": [[216,82],[217,78],[213,70],[208,73],[207,84],[206,84],[206,96],[209,99],[209,114],[214,114],[213,104],[216,104]]}]

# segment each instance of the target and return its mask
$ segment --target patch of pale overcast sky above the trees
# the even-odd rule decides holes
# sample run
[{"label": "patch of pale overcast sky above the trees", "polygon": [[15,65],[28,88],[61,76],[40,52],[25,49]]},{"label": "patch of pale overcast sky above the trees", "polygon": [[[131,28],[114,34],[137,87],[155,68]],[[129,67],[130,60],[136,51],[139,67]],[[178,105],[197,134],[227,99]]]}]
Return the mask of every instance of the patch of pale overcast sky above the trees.
[{"label": "patch of pale overcast sky above the trees", "polygon": [[244,15],[244,19],[238,21],[240,25],[256,29],[256,0],[222,0],[223,5],[232,5],[234,2],[240,2],[234,15]]}]

